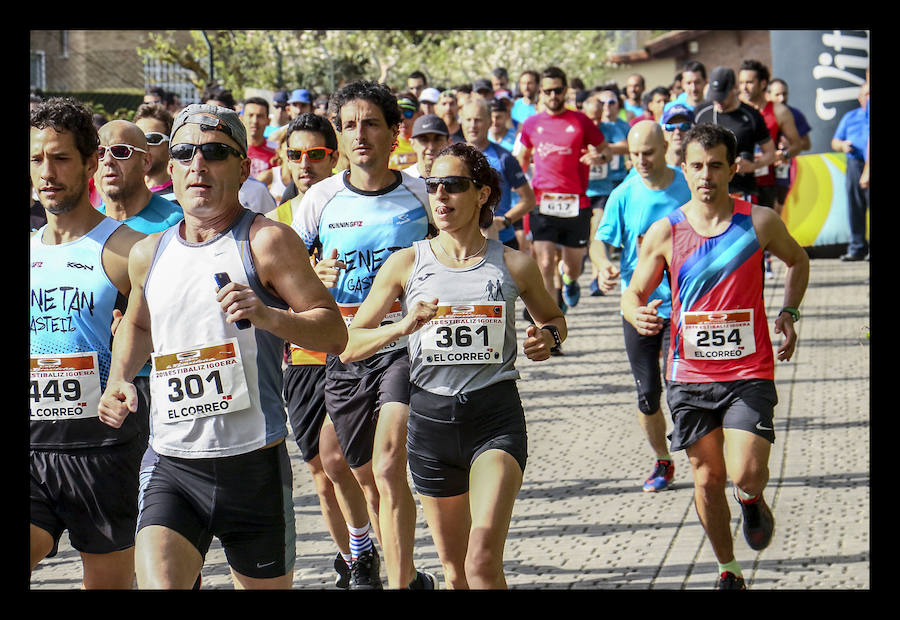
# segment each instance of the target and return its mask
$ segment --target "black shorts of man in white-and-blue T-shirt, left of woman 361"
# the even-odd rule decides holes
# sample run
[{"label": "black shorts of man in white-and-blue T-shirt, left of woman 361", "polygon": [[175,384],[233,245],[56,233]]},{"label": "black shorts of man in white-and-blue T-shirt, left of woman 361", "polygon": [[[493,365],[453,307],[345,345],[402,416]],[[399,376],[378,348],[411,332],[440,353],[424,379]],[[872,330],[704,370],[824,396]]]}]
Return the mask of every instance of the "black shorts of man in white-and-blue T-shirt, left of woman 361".
[{"label": "black shorts of man in white-and-blue T-shirt, left of woman 361", "polygon": [[344,458],[351,468],[372,460],[375,425],[385,403],[409,404],[406,347],[344,364],[329,355],[325,365],[325,407]]}]

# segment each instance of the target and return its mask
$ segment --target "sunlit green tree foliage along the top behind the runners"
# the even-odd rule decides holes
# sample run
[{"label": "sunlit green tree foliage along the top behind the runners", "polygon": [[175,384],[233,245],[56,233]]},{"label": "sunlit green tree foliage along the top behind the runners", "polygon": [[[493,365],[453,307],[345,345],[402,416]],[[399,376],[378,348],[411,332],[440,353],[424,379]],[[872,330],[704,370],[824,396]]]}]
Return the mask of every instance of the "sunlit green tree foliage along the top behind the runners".
[{"label": "sunlit green tree foliage along the top behind the runners", "polygon": [[138,53],[189,69],[202,90],[211,47],[212,76],[237,97],[248,87],[328,93],[356,79],[402,90],[415,70],[442,88],[505,67],[514,84],[522,71],[550,65],[591,87],[604,81],[615,44],[603,30],[193,30],[188,44],[175,34],[151,34]]}]

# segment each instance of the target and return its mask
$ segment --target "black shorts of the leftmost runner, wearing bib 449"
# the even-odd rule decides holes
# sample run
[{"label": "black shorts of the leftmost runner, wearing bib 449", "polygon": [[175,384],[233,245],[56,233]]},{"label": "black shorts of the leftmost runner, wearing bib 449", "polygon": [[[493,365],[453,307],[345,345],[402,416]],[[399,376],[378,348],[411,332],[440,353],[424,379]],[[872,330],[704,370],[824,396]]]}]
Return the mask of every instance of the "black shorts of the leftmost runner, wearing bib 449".
[{"label": "black shorts of the leftmost runner, wearing bib 449", "polygon": [[31,450],[31,523],[53,537],[47,557],[56,555],[65,530],[72,547],[84,553],[134,545],[138,470],[146,447],[147,438],[139,436],[103,448]]}]

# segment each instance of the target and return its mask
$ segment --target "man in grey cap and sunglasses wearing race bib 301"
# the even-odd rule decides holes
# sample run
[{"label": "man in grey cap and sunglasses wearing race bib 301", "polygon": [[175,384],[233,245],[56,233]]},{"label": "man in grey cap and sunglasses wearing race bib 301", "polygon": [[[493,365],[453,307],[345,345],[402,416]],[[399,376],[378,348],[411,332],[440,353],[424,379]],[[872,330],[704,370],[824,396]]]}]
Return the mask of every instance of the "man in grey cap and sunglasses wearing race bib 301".
[{"label": "man in grey cap and sunglasses wearing race bib 301", "polygon": [[[131,253],[129,306],[100,406],[101,421],[121,424],[134,410],[130,381],[152,355],[151,445],[160,459],[141,491],[138,586],[190,588],[217,536],[236,588],[289,588],[284,341],[339,352],[346,328],[290,227],[241,206],[250,162],[237,115],[188,106],[170,144],[185,219]],[[217,290],[218,272],[231,282]]]}]

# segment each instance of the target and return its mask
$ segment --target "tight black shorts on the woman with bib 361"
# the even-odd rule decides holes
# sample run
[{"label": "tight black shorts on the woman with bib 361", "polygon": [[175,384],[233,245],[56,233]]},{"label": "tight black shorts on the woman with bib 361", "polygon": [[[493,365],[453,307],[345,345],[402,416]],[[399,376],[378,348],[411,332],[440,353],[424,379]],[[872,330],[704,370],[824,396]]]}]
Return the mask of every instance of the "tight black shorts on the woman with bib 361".
[{"label": "tight black shorts on the woman with bib 361", "polygon": [[457,396],[412,386],[406,449],[416,491],[452,497],[469,490],[469,470],[486,450],[503,450],[525,471],[528,436],[515,381]]}]

